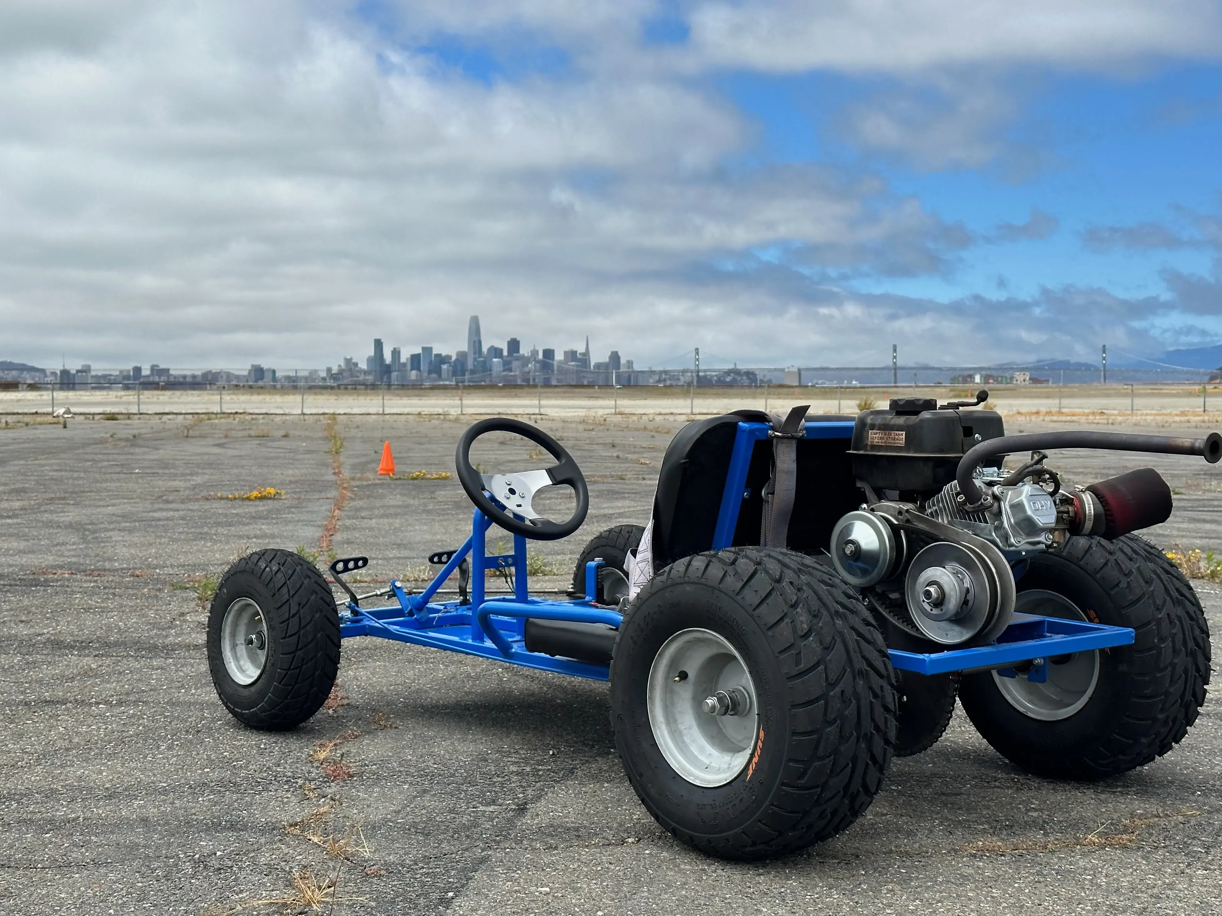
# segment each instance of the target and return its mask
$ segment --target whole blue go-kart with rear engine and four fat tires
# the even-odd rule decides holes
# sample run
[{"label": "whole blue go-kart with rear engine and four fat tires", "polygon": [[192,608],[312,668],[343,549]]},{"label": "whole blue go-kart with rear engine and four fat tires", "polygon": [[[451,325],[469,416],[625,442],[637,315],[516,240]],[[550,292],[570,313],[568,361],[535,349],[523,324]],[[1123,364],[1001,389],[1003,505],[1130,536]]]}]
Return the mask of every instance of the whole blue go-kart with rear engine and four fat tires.
[{"label": "whole blue go-kart with rear engine and four fat tires", "polygon": [[[296,553],[243,557],[211,605],[216,691],[248,725],[293,728],[356,636],[610,680],[616,747],[645,807],[732,859],[847,828],[895,755],[937,741],[956,697],[1028,772],[1100,779],[1149,763],[1193,724],[1210,674],[1191,586],[1133,534],[1166,520],[1171,490],[1149,468],[1072,487],[1040,449],[1217,462],[1222,436],[1006,436],[998,414],[975,409],[985,397],[690,423],[667,448],[649,524],[599,534],[565,601],[530,595],[527,541],[580,526],[585,479],[535,426],[475,423],[457,449],[472,534],[430,558],[433,583],[357,595],[343,576],[368,561],[337,559],[337,605]],[[470,449],[490,432],[556,464],[480,473]],[[1009,454],[1019,467],[1002,470]],[[565,522],[536,512],[551,486],[576,495]],[[486,554],[494,524],[512,553]],[[491,569],[507,589],[488,590]]]}]

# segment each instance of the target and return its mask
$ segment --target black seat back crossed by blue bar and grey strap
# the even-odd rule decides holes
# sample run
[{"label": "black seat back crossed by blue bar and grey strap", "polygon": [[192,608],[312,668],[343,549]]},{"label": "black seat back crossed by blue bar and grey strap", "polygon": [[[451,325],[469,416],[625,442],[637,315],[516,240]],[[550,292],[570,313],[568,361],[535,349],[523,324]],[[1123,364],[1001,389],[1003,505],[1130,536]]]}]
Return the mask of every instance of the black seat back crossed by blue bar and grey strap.
[{"label": "black seat back crossed by blue bar and grey strap", "polygon": [[[654,497],[654,569],[712,548],[721,496],[730,473],[738,424],[769,423],[763,410],[736,410],[689,423],[671,441],[662,458]],[[808,416],[853,420],[852,416]],[[827,550],[832,528],[862,503],[848,456],[849,438],[799,438],[798,486],[789,520],[788,546],[804,553]],[[738,512],[733,546],[758,545],[764,513],[761,493],[771,476],[772,442],[760,440],[747,471],[745,495]]]}]

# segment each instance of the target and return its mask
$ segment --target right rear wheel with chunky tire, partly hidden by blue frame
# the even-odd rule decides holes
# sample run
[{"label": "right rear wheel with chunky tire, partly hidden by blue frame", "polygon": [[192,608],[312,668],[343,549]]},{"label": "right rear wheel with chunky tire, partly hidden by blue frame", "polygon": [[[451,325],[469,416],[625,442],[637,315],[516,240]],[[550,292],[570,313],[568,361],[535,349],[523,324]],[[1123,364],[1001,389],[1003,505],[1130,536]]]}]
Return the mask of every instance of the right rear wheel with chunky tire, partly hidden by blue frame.
[{"label": "right rear wheel with chunky tire, partly hidden by blue frame", "polygon": [[1031,773],[1100,779],[1127,772],[1166,754],[1196,717],[1194,608],[1136,540],[1073,537],[1033,557],[1017,608],[1132,627],[1133,645],[1052,657],[1042,682],[1030,664],[1007,672],[1017,677],[963,677],[959,700],[976,730]]}]

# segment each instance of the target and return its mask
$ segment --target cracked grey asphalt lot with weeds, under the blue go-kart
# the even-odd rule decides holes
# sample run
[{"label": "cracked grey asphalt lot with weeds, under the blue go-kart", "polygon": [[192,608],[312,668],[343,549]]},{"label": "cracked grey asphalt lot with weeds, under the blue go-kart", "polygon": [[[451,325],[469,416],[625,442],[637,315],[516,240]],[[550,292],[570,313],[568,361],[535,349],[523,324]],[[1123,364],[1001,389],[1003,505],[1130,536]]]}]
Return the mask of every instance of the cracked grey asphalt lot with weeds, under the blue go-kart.
[{"label": "cracked grey asphalt lot with weeds, under the blue go-kart", "polygon": [[[584,529],[538,545],[565,572],[594,531],[645,520],[677,424],[544,425],[590,479]],[[1090,785],[1023,774],[959,711],[844,834],[756,865],[656,827],[612,750],[605,684],[362,639],[302,728],[235,722],[198,578],[262,546],[318,550],[336,457],[335,548],[370,556],[371,579],[418,569],[461,542],[470,507],[455,480],[379,479],[381,443],[401,475],[452,470],[462,429],[341,418],[338,456],[316,416],[0,430],[0,911],[292,912],[258,901],[304,899],[297,873],[337,883],[336,914],[1222,912],[1212,701],[1169,755]],[[1222,552],[1222,470],[1056,459],[1078,482],[1145,464],[1178,491],[1155,540]],[[264,486],[284,496],[224,498]],[[1196,585],[1217,629],[1222,594]]]}]

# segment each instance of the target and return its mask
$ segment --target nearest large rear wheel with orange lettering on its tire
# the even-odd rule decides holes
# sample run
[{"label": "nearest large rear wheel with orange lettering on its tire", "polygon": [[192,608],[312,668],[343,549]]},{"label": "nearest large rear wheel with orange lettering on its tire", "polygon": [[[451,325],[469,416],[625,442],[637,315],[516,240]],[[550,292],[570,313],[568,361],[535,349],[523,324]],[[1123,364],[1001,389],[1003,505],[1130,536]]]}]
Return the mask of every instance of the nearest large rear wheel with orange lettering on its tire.
[{"label": "nearest large rear wheel with orange lettering on its tire", "polygon": [[662,827],[726,859],[829,839],[874,800],[896,735],[895,674],[833,572],[739,547],[657,574],[611,663],[616,747]]}]

